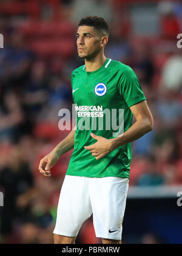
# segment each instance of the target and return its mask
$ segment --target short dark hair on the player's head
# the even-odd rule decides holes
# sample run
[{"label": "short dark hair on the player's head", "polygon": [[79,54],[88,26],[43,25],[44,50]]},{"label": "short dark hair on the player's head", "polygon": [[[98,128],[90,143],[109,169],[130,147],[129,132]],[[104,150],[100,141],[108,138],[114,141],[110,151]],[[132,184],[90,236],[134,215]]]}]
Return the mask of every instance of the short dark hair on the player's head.
[{"label": "short dark hair on the player's head", "polygon": [[109,37],[109,27],[104,18],[98,16],[87,16],[79,21],[78,26],[90,26],[94,29],[104,32]]}]

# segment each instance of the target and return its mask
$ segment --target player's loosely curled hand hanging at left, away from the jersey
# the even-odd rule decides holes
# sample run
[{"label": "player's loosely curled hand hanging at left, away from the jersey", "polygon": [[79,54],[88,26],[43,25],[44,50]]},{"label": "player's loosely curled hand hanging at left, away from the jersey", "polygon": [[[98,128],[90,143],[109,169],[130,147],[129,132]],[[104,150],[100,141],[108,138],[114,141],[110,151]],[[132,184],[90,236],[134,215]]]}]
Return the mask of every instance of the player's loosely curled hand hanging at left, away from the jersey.
[{"label": "player's loosely curled hand hanging at left, away from the jersey", "polygon": [[51,152],[50,154],[47,154],[47,156],[44,156],[39,164],[40,173],[42,173],[42,175],[44,176],[51,176],[50,169],[53,167],[53,165],[56,164],[58,159],[59,156],[54,152]]}]

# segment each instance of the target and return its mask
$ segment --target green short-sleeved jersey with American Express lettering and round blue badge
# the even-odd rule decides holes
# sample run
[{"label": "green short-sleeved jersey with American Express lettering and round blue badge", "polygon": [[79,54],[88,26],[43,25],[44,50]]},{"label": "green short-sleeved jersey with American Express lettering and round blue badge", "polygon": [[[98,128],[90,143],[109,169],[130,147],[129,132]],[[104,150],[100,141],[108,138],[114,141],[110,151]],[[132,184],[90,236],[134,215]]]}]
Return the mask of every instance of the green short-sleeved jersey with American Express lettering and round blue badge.
[{"label": "green short-sleeved jersey with American Express lettering and round blue badge", "polygon": [[85,65],[78,67],[72,72],[71,81],[76,131],[66,175],[129,178],[130,143],[98,160],[84,146],[97,141],[90,133],[112,139],[130,128],[130,106],[146,100],[135,72],[120,61],[107,58],[93,72],[87,72]]}]

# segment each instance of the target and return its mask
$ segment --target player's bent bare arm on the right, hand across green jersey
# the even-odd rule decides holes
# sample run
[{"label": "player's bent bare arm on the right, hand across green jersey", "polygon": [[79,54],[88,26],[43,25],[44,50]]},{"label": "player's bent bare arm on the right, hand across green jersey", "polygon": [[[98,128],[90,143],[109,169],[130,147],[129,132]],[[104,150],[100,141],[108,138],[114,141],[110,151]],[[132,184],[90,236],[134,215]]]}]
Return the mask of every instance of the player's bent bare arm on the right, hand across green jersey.
[{"label": "player's bent bare arm on the right, hand across green jersey", "polygon": [[135,116],[136,122],[133,123],[125,133],[113,139],[106,139],[102,136],[96,136],[93,133],[90,134],[97,142],[93,145],[85,146],[84,148],[90,150],[90,153],[92,153],[92,156],[95,156],[96,160],[106,156],[110,151],[128,144],[149,131],[152,131],[153,117],[146,100],[130,106],[130,110]]}]

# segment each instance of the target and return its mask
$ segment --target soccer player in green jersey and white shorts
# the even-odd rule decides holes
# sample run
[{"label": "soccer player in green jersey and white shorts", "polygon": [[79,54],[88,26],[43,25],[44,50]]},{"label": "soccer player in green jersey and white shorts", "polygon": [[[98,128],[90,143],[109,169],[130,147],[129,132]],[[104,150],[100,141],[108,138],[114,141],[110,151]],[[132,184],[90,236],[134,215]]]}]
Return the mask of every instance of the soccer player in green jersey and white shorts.
[{"label": "soccer player in green jersey and white shorts", "polygon": [[[78,56],[85,60],[71,76],[76,126],[39,164],[42,175],[50,176],[59,157],[74,148],[59,196],[54,242],[75,243],[81,225],[93,213],[96,237],[106,244],[121,243],[130,142],[152,130],[153,117],[135,72],[104,55],[106,21],[82,18],[76,38]],[[120,120],[117,133],[113,123]]]}]

